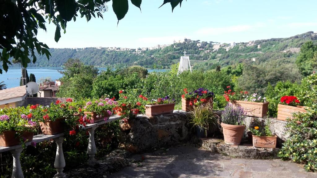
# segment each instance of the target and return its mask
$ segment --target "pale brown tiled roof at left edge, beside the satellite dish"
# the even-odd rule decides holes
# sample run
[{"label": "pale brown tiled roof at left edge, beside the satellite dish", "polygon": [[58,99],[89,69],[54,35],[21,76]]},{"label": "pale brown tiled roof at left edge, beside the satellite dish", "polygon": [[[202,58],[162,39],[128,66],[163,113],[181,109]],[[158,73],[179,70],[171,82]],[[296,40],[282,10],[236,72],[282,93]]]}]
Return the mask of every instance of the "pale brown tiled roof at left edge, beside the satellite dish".
[{"label": "pale brown tiled roof at left edge, beside the satellite dish", "polygon": [[[26,95],[25,86],[17,86],[14,88],[8,88],[8,89],[0,90],[0,101],[4,101],[4,100],[8,100],[8,99],[15,99],[15,98],[19,98],[19,97],[23,97],[23,99],[24,99],[25,95]],[[21,99],[21,100],[23,100],[23,99]]]}]

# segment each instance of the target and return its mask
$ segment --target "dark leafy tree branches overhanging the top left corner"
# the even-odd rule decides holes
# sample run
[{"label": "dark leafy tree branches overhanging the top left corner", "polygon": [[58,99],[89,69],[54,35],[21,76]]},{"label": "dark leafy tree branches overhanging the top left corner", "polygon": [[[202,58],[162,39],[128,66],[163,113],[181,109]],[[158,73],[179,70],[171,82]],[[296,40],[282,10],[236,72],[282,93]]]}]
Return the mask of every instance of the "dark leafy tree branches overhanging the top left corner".
[{"label": "dark leafy tree branches overhanging the top left corner", "polygon": [[[112,1],[112,9],[118,23],[129,9],[128,0],[3,0],[0,1],[0,62],[4,71],[8,71],[10,58],[21,62],[23,67],[36,62],[35,50],[49,59],[49,47],[38,41],[39,29],[46,31],[46,23],[56,26],[55,41],[61,38],[61,30],[66,33],[67,22],[76,21],[78,16],[103,18],[102,12],[107,11],[107,2]],[[140,8],[142,0],[130,0]],[[163,6],[170,3],[172,11],[183,0],[164,0]],[[161,7],[160,6],[160,7]],[[0,69],[2,73],[2,69]]]}]

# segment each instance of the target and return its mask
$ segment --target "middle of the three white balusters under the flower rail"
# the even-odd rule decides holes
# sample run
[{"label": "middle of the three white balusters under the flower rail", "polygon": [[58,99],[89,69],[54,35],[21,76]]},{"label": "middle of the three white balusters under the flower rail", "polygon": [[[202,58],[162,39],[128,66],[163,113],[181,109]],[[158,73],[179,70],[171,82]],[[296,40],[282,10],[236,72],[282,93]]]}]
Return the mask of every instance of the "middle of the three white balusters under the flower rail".
[{"label": "middle of the three white balusters under the flower rail", "polygon": [[54,175],[54,178],[66,177],[66,175],[63,173],[64,167],[65,167],[65,159],[63,154],[63,140],[64,140],[63,136],[54,138],[54,141],[56,142],[56,145],[57,145],[55,162],[54,162],[54,167],[56,168],[57,173]]}]

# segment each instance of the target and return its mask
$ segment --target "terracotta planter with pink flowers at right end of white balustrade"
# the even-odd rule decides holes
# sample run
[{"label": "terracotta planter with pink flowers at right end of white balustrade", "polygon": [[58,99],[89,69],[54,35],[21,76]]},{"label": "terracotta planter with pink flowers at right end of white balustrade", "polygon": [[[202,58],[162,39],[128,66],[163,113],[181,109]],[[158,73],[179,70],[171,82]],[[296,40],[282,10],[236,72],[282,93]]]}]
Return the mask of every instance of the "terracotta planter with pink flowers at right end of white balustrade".
[{"label": "terracotta planter with pink flowers at right end of white balustrade", "polygon": [[112,108],[117,103],[112,99],[87,100],[83,107],[85,119],[91,124],[107,120],[112,115]]}]

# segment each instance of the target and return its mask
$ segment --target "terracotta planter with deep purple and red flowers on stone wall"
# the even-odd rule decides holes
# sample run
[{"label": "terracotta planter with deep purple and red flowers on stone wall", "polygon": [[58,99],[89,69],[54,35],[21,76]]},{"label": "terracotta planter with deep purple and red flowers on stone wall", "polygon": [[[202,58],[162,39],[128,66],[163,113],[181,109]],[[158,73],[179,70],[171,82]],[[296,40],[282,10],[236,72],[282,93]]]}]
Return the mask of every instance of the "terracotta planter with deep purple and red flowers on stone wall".
[{"label": "terracotta planter with deep purple and red flowers on stone wall", "polygon": [[194,105],[202,105],[204,103],[213,104],[214,93],[210,92],[204,88],[198,88],[193,92],[188,92],[187,88],[184,89],[184,94],[182,95],[182,110],[192,111]]}]

